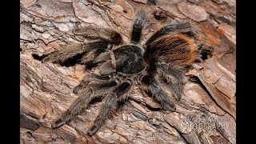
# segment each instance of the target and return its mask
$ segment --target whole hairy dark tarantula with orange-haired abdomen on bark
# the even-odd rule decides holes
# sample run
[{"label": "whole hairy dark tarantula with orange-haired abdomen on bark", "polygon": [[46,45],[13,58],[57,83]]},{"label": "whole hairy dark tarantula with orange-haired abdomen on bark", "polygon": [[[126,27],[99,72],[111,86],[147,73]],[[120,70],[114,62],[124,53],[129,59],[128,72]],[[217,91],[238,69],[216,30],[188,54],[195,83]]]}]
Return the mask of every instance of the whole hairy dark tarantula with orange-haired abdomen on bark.
[{"label": "whole hairy dark tarantula with orange-haired abdomen on bark", "polygon": [[[149,94],[164,110],[174,111],[172,99],[179,100],[184,85],[182,73],[196,58],[196,45],[190,23],[169,23],[153,34],[145,44],[140,44],[146,14],[140,10],[133,23],[131,42],[123,45],[118,32],[106,28],[82,27],[72,32],[91,41],[66,46],[65,49],[46,54],[42,62],[65,62],[82,54],[80,62],[91,66],[74,94],[79,98],[52,128],[62,126],[86,109],[93,98],[103,98],[103,106],[90,126],[88,134],[94,134],[114,114],[118,102],[129,98],[132,86],[138,86],[142,94]],[[162,90],[168,86],[174,98]]]}]

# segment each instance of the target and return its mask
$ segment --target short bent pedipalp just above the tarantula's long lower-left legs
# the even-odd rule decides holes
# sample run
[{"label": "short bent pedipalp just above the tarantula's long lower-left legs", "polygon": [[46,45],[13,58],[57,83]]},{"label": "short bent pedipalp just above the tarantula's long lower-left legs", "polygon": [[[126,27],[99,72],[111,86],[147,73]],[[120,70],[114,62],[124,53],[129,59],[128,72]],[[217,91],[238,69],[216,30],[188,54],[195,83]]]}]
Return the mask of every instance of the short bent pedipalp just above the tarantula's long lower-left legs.
[{"label": "short bent pedipalp just above the tarantula's long lower-left legs", "polygon": [[85,88],[89,82],[108,82],[110,77],[108,76],[100,76],[94,73],[90,73],[82,78],[82,81],[78,84],[78,86],[74,87],[73,93],[78,94],[80,90]]}]

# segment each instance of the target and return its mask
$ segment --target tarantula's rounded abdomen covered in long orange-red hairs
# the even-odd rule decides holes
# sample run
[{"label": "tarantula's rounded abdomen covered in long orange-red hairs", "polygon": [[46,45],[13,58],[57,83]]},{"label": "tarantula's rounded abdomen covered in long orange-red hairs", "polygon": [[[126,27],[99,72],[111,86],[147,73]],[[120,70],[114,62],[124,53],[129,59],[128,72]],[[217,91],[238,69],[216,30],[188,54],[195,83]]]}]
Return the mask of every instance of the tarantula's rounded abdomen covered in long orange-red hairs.
[{"label": "tarantula's rounded abdomen covered in long orange-red hairs", "polygon": [[146,62],[164,60],[180,66],[190,65],[196,58],[196,45],[185,34],[166,34],[150,43],[144,54]]}]

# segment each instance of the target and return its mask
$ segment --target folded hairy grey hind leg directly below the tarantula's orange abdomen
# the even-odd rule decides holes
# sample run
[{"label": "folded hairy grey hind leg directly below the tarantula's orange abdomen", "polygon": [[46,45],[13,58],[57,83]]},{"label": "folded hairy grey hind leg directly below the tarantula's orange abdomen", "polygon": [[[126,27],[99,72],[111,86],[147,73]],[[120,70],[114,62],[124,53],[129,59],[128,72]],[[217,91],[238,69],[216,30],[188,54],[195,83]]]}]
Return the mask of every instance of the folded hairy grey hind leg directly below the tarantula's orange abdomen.
[{"label": "folded hairy grey hind leg directly below the tarantula's orange abdomen", "polygon": [[166,85],[170,87],[174,98],[179,100],[184,86],[182,69],[165,62],[158,62],[156,63],[156,71],[160,78],[166,81]]}]

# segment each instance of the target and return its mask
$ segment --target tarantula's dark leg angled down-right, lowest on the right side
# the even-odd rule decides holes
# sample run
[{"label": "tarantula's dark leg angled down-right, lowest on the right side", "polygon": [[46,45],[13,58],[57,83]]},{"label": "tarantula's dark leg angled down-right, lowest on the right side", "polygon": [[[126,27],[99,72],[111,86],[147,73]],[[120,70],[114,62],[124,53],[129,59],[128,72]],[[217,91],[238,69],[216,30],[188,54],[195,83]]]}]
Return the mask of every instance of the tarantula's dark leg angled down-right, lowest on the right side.
[{"label": "tarantula's dark leg angled down-right, lowest on the right side", "polygon": [[160,102],[166,110],[175,111],[174,103],[170,101],[168,95],[162,90],[160,83],[153,77],[146,75],[142,78],[142,90],[152,94],[153,98]]}]

